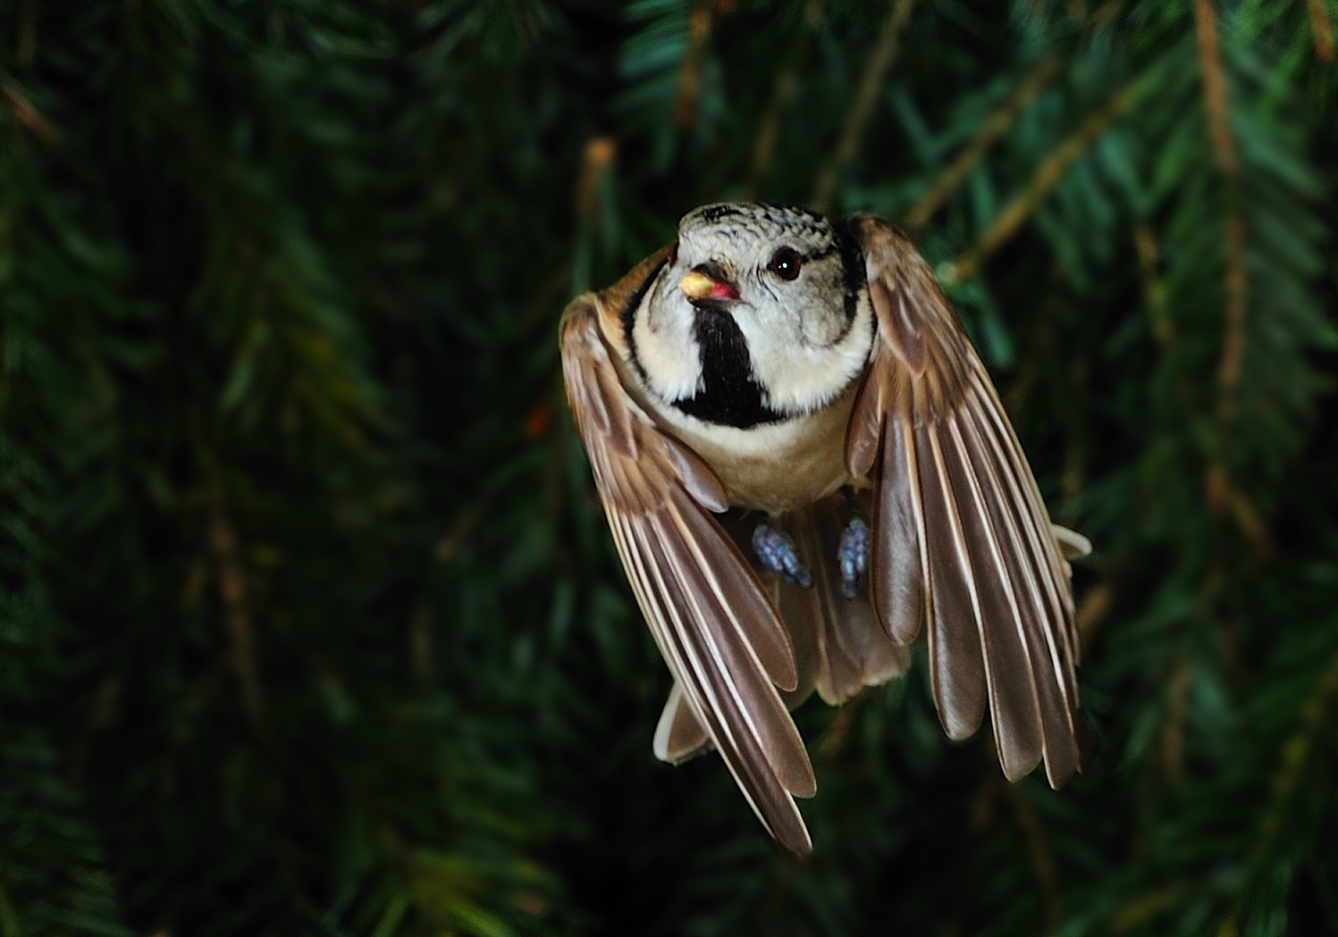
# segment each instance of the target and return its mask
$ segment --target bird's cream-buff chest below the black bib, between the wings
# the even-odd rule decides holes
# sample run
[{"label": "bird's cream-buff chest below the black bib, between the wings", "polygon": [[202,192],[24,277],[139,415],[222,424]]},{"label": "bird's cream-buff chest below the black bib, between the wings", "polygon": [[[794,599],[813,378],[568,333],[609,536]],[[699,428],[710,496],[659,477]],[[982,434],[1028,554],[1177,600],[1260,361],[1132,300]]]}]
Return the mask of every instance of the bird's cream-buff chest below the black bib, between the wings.
[{"label": "bird's cream-buff chest below the black bib, between the wings", "polygon": [[657,406],[658,422],[720,476],[729,503],[784,513],[816,501],[852,480],[846,469],[846,426],[855,388],[831,405],[747,429]]}]

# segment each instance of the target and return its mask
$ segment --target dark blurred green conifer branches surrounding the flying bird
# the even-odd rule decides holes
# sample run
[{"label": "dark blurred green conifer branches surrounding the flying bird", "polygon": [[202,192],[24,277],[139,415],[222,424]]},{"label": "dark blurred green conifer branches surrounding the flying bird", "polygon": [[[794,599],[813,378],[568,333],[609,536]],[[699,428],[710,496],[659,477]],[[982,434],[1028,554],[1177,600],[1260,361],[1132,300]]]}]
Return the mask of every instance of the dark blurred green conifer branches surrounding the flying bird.
[{"label": "dark blurred green conifer branches surrounding the flying bird", "polygon": [[[0,934],[1338,933],[1335,0],[0,0]],[[777,855],[555,326],[717,199],[943,279],[1076,571],[1062,791],[911,674]]]}]

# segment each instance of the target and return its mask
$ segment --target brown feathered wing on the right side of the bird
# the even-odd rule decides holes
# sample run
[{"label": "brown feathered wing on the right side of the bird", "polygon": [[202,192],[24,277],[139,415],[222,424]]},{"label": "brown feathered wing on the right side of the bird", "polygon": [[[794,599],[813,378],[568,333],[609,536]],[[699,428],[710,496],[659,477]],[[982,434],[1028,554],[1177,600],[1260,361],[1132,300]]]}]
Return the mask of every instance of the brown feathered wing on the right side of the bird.
[{"label": "brown feathered wing on the right side of the bird", "polygon": [[[1080,769],[1078,635],[1066,563],[989,374],[934,275],[886,222],[851,222],[878,341],[846,458],[878,465],[874,606],[898,642],[929,623],[943,728],[975,731],[986,698],[1004,773]],[[879,461],[880,460],[880,461]]]}]

